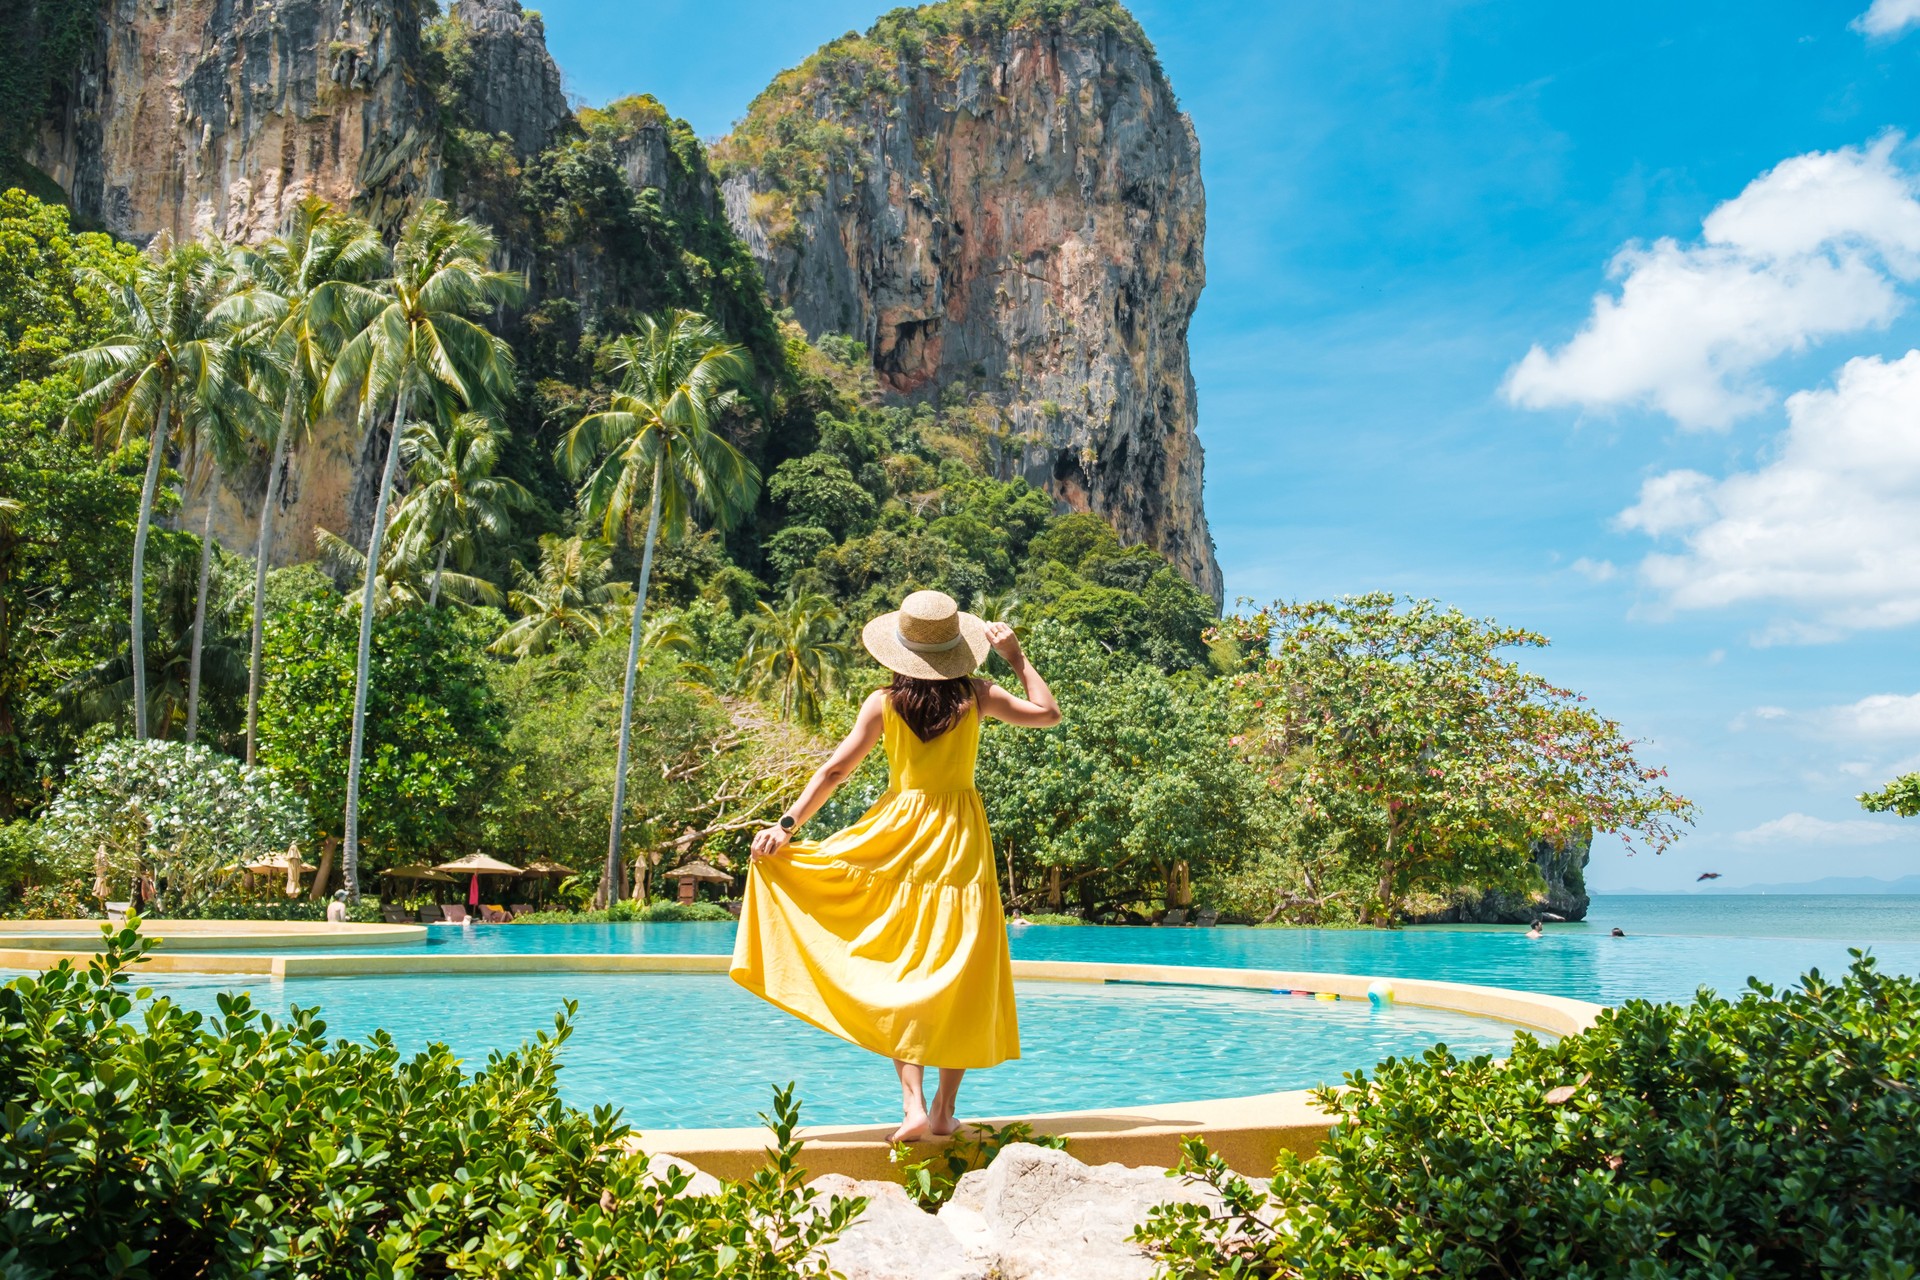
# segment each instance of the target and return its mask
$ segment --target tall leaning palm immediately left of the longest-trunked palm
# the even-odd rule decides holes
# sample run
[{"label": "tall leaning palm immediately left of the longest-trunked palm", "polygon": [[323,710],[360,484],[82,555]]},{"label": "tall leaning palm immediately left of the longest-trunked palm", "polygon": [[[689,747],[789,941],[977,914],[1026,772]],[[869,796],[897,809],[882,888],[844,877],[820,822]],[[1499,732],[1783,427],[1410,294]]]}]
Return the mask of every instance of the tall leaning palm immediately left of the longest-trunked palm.
[{"label": "tall leaning palm immediately left of the longest-trunked palm", "polygon": [[332,351],[349,334],[348,284],[371,280],[386,265],[386,246],[372,226],[346,215],[319,196],[294,209],[286,234],[259,248],[240,249],[246,284],[230,311],[269,353],[265,382],[280,405],[273,430],[267,495],[259,505],[259,541],[253,549],[253,637],[248,656],[246,762],[253,764],[259,739],[259,691],[267,626],[267,564],[273,560],[273,520],[280,505],[280,474],[296,438],[313,430],[321,413]]}]

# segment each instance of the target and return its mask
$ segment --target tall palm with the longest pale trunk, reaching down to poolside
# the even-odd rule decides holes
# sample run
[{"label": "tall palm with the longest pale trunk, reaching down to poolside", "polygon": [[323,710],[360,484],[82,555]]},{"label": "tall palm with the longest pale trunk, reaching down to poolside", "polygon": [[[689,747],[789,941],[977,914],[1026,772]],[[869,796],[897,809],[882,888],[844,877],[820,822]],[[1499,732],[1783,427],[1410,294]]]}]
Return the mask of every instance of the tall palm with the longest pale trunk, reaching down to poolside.
[{"label": "tall palm with the longest pale trunk, reaching down to poolside", "polygon": [[428,200],[401,228],[388,278],[371,288],[342,290],[342,317],[353,336],[326,370],[323,401],[334,405],[351,395],[363,415],[394,403],[380,495],[367,535],[367,585],[361,591],[359,664],[353,674],[353,737],[348,745],[348,812],[340,850],[342,879],[353,900],[359,900],[361,756],[386,507],[394,497],[411,403],[424,401],[447,415],[490,411],[513,388],[513,349],[470,319],[520,294],[520,276],[490,269],[492,257],[492,232],[455,217],[445,201]]}]

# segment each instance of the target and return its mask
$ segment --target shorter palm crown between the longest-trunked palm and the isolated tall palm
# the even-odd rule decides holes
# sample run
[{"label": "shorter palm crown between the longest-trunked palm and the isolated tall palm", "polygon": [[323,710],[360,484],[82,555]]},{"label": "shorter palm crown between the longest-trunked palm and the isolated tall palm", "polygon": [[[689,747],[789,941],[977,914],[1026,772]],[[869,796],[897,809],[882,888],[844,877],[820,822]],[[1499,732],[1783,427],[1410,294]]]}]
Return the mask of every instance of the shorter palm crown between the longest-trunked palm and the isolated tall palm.
[{"label": "shorter palm crown between the longest-trunked palm and the isolated tall palm", "polygon": [[407,497],[394,512],[394,539],[413,557],[434,555],[426,606],[440,604],[440,574],[447,557],[472,568],[482,537],[513,533],[513,512],[534,505],[518,480],[495,476],[493,464],[507,443],[507,428],[484,413],[463,413],[442,430],[415,422],[401,439],[407,462]]}]

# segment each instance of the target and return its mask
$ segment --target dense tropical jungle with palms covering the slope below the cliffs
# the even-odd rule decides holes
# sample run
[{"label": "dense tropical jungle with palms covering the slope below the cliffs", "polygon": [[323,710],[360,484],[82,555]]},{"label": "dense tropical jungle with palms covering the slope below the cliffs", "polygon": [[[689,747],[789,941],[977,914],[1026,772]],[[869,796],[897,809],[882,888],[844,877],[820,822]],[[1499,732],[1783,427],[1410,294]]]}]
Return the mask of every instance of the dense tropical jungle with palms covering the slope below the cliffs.
[{"label": "dense tropical jungle with palms covering the slope below the cliffs", "polygon": [[[71,8],[21,48],[65,50]],[[1657,770],[1511,660],[1538,635],[1388,597],[1221,618],[1033,487],[991,388],[885,395],[770,309],[716,167],[804,198],[837,163],[806,86],[1027,23],[1139,38],[1114,4],[902,10],[710,163],[647,96],[516,154],[470,127],[444,15],[447,198],[394,225],[307,200],[261,244],[134,248],[0,194],[0,912],[298,913],[468,852],[570,867],[549,908],[649,910],[685,860],[743,865],[881,683],[858,626],[920,587],[1016,624],[1066,708],[983,747],[1016,910],[1394,923],[1532,887],[1536,841],[1670,841]],[[326,449],[363,491],[296,528]],[[883,787],[874,760],[818,821]],[[298,904],[238,873],[265,833],[317,867]]]}]

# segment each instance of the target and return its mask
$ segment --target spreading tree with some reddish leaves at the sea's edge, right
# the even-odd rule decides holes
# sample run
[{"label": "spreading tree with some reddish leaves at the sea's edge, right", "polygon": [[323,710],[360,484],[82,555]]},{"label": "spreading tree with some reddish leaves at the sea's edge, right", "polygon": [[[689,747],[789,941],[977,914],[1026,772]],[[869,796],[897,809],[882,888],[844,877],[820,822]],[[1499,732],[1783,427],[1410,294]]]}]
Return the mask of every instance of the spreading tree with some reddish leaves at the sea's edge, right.
[{"label": "spreading tree with some reddish leaves at the sea's edge, right", "polygon": [[1586,831],[1655,852],[1690,821],[1620,725],[1526,672],[1546,637],[1392,595],[1275,604],[1229,626],[1244,743],[1290,814],[1313,898],[1398,919],[1411,894],[1524,889],[1526,848]]}]

